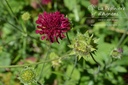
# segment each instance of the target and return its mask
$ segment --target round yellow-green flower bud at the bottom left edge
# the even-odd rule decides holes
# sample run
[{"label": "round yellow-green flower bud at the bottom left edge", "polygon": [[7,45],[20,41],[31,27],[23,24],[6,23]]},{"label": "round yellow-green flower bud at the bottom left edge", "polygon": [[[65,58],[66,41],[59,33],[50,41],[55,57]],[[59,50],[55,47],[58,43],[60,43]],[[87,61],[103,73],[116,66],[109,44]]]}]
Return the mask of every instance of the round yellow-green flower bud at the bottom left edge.
[{"label": "round yellow-green flower bud at the bottom left edge", "polygon": [[20,73],[19,79],[25,85],[34,83],[36,81],[36,74],[34,69],[30,67],[26,67],[25,69],[23,69]]}]

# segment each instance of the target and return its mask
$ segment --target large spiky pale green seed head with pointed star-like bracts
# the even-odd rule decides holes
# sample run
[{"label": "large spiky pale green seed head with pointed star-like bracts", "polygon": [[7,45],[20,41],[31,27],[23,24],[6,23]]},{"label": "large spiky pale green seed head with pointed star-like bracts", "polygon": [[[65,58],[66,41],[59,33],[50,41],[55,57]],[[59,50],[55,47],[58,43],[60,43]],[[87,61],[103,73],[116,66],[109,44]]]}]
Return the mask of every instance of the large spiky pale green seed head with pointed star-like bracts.
[{"label": "large spiky pale green seed head with pointed star-like bracts", "polygon": [[69,45],[73,49],[70,55],[77,55],[78,59],[81,57],[85,59],[90,53],[96,51],[97,41],[98,39],[93,38],[93,35],[89,36],[88,32],[85,34],[78,33],[76,38],[72,40],[72,44]]}]

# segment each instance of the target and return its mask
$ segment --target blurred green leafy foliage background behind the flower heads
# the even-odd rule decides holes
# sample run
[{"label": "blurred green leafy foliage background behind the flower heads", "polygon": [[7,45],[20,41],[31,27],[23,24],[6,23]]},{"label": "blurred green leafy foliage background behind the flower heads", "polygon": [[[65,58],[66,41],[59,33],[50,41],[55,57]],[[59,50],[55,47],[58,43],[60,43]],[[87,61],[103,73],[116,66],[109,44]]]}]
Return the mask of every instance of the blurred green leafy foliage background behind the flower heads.
[{"label": "blurred green leafy foliage background behind the flower heads", "polygon": [[[58,57],[64,58],[55,66],[52,61],[31,66],[42,85],[63,85],[65,82],[66,85],[127,85],[127,0],[52,0],[47,5],[43,5],[41,0],[7,2],[1,0],[0,3],[0,85],[23,85],[18,79],[23,67],[1,66],[33,64]],[[70,77],[74,56],[68,55],[71,50],[68,40],[65,38],[59,40],[59,44],[51,44],[42,41],[35,33],[38,14],[57,10],[72,23],[73,27],[68,32],[70,40],[77,33],[85,33],[87,30],[99,39],[98,50],[94,55],[101,65],[99,70],[91,57],[81,58]],[[24,21],[22,15],[26,12],[30,14],[30,19]],[[115,48],[123,49],[120,59],[112,58]]]}]

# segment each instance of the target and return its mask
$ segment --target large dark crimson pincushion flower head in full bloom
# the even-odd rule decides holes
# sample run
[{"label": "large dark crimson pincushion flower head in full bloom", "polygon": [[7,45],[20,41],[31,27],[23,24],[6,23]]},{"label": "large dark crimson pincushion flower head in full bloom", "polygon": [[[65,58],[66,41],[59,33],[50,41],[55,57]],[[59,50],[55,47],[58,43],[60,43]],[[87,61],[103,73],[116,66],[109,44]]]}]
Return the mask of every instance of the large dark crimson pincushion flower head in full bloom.
[{"label": "large dark crimson pincushion flower head in full bloom", "polygon": [[[41,39],[50,42],[58,42],[58,38],[63,39],[64,33],[70,30],[70,22],[60,12],[40,14],[36,21],[36,33],[42,35]],[[58,42],[59,43],[59,42]]]}]

